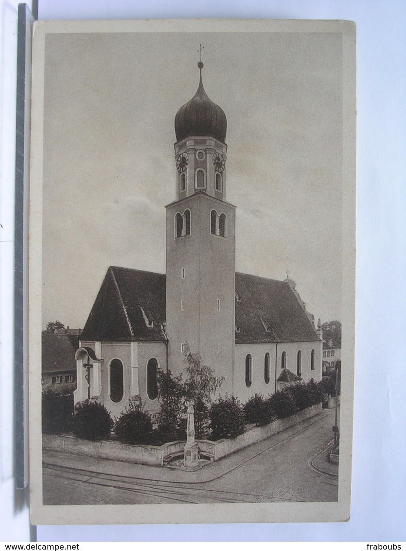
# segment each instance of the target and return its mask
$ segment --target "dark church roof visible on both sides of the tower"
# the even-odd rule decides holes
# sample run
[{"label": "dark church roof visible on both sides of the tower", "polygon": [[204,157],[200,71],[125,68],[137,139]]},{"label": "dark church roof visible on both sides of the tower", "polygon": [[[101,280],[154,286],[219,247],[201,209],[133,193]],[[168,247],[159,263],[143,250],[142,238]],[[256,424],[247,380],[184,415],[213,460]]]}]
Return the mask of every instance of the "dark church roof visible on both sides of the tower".
[{"label": "dark church roof visible on both sides of the tower", "polygon": [[[82,341],[165,341],[166,276],[108,268]],[[319,341],[287,282],[235,274],[235,343]]]}]

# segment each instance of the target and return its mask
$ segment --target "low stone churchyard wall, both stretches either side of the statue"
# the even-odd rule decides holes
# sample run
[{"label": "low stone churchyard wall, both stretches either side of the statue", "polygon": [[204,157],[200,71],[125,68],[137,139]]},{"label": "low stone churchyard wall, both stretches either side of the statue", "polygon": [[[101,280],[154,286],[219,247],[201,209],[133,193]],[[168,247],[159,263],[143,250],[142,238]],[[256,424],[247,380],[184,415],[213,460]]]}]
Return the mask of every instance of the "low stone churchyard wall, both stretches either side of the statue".
[{"label": "low stone churchyard wall, both stretches either side of the statue", "polygon": [[[235,438],[217,440],[196,440],[196,444],[203,452],[211,453],[214,460],[220,459],[246,446],[264,440],[273,434],[280,433],[296,423],[314,417],[322,410],[321,404],[304,409],[286,419],[277,419],[266,426],[258,426],[247,430]],[[91,457],[100,457],[114,461],[127,461],[130,463],[142,463],[160,467],[164,457],[171,453],[183,451],[185,442],[178,440],[168,442],[162,446],[130,445],[114,440],[82,440],[75,436],[62,436],[58,434],[44,434],[42,445],[45,450],[64,451],[68,453],[80,453]]]}]

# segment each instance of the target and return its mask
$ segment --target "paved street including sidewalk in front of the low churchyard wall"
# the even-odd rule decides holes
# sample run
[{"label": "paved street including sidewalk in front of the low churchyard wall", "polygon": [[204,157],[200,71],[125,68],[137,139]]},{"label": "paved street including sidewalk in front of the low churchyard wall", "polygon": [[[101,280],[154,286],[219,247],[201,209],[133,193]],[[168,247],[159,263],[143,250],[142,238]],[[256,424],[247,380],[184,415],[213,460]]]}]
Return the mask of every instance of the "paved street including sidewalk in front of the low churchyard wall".
[{"label": "paved street including sidewalk in front of the low churchyard wall", "polygon": [[43,503],[336,501],[337,467],[324,452],[333,419],[326,410],[194,473],[45,451]]}]

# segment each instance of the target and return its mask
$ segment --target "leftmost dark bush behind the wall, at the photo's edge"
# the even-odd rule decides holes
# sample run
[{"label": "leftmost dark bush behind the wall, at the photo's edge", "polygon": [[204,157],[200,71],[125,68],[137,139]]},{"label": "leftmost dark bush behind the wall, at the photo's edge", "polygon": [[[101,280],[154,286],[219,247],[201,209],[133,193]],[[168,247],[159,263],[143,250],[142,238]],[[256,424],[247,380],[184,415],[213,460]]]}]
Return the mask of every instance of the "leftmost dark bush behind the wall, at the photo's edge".
[{"label": "leftmost dark bush behind the wall, at the photo's edge", "polygon": [[42,433],[59,434],[72,429],[73,394],[58,395],[52,390],[42,393]]}]

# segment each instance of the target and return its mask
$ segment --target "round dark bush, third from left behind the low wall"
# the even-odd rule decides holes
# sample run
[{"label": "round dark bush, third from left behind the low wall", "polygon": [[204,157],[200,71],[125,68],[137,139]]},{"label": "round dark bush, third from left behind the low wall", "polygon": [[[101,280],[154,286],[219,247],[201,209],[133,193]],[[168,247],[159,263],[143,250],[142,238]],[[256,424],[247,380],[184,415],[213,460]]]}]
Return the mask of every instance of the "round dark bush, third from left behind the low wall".
[{"label": "round dark bush, third from left behind the low wall", "polygon": [[130,404],[118,418],[114,433],[128,444],[149,444],[152,433],[151,415],[142,410],[141,404]]}]

